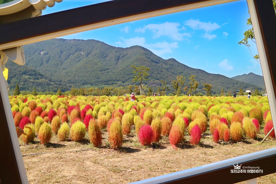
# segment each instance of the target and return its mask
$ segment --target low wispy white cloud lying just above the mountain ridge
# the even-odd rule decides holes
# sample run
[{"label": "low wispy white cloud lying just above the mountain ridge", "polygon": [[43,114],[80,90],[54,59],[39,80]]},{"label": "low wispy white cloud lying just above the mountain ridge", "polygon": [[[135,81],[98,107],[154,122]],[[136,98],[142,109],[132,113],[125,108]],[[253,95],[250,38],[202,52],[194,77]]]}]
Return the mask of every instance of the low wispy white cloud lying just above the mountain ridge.
[{"label": "low wispy white cloud lying just above the mountain ridge", "polygon": [[122,39],[121,41],[116,42],[117,45],[125,46],[125,47],[140,45],[142,47],[149,49],[157,56],[162,56],[163,54],[166,54],[166,53],[172,53],[173,49],[178,48],[177,42],[168,43],[166,41],[163,41],[163,42],[157,42],[154,44],[147,44],[144,37],[135,37],[130,39],[121,38],[121,39]]}]

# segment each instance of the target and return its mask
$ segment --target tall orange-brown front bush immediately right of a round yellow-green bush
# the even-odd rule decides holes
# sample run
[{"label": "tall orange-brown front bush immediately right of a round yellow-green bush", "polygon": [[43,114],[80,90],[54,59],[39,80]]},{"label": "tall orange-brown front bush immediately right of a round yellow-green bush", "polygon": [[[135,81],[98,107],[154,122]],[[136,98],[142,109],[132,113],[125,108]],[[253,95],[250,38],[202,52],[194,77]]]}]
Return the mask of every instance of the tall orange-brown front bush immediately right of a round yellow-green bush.
[{"label": "tall orange-brown front bush immediately right of a round yellow-green bush", "polygon": [[99,147],[102,145],[102,132],[95,119],[90,119],[89,121],[88,135],[90,143],[93,144],[95,147]]}]

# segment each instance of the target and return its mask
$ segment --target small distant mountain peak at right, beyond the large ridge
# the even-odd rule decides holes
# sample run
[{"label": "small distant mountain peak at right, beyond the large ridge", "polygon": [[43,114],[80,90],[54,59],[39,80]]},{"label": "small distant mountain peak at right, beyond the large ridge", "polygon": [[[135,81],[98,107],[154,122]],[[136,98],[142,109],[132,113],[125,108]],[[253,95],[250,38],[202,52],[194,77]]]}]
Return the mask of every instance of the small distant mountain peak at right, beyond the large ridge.
[{"label": "small distant mountain peak at right, beyond the large ridge", "polygon": [[243,75],[238,75],[236,77],[231,77],[231,79],[236,79],[236,80],[239,80],[241,82],[246,82],[246,83],[249,83],[249,84],[254,84],[256,86],[259,86],[259,87],[265,89],[265,84],[264,84],[263,76],[254,74],[252,72],[249,73],[249,74],[243,74]]}]

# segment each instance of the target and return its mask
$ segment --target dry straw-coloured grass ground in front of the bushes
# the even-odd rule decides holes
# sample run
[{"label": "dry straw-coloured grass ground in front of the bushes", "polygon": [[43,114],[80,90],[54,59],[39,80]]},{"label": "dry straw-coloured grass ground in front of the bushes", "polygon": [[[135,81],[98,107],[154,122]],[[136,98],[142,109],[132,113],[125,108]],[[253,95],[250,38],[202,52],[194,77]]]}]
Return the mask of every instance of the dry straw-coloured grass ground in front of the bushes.
[{"label": "dry straw-coloured grass ground in front of the bushes", "polygon": [[[272,139],[260,144],[262,138],[216,144],[212,136],[202,136],[200,144],[192,146],[186,135],[178,150],[171,148],[167,136],[153,149],[141,146],[132,128],[124,136],[123,147],[115,151],[109,147],[106,132],[102,137],[100,148],[89,143],[87,133],[80,142],[59,141],[53,135],[45,146],[37,139],[30,144],[19,139],[29,183],[129,183],[276,146]],[[263,133],[258,137],[264,137]],[[33,153],[47,154],[28,155]],[[258,183],[276,183],[276,174],[260,177]]]}]

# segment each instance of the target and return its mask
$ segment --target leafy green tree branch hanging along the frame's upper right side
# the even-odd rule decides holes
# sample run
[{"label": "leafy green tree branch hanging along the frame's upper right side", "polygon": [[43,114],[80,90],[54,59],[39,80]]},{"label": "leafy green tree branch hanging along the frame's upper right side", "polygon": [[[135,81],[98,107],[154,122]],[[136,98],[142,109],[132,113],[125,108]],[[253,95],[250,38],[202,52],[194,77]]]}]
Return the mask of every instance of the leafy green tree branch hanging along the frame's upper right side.
[{"label": "leafy green tree branch hanging along the frame's upper right side", "polygon": [[[273,2],[273,6],[274,6],[274,11],[275,11],[275,15],[276,15],[276,0],[272,0]],[[249,12],[248,12],[249,13]],[[251,22],[251,18],[247,19],[247,25],[252,25],[252,22]],[[250,54],[251,56],[258,62],[260,63],[260,58],[259,58],[259,55],[256,54],[255,56],[252,55],[251,53],[251,50],[250,50],[250,44],[248,44],[248,39],[253,41],[254,43],[256,43],[256,40],[255,40],[255,34],[254,34],[254,30],[253,28],[251,29],[248,29],[246,32],[243,33],[244,35],[244,38],[243,40],[241,40],[238,44],[243,44],[245,46],[248,47],[249,51],[250,51]]]}]

